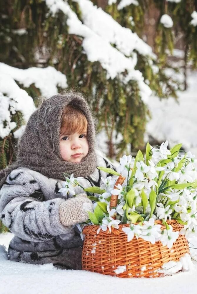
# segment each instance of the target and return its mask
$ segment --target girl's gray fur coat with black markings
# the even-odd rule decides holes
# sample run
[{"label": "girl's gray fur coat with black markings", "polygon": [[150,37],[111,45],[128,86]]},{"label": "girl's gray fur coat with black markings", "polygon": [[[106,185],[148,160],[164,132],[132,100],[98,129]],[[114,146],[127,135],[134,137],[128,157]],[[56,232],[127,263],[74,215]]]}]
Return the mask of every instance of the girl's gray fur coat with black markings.
[{"label": "girl's gray fur coat with black markings", "polygon": [[[97,166],[113,167],[97,155]],[[109,176],[96,169],[79,180],[87,188],[99,186],[101,177]],[[81,269],[83,241],[78,228],[64,227],[59,220],[59,205],[66,196],[59,192],[61,180],[48,178],[28,168],[17,168],[7,177],[0,190],[0,217],[14,233],[9,245],[11,260],[56,267]],[[76,194],[83,192],[76,187]]]}]

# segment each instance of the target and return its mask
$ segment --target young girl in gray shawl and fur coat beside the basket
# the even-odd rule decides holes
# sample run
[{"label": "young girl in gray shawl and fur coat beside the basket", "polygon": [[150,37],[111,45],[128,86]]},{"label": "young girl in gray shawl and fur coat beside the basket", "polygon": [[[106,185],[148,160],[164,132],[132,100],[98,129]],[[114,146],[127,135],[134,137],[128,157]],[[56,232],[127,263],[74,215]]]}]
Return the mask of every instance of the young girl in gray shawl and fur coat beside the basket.
[{"label": "young girl in gray shawl and fur coat beside the basket", "polygon": [[[0,218],[14,233],[10,260],[81,269],[83,242],[75,226],[86,221],[92,203],[80,187],[69,199],[59,192],[64,172],[83,187],[99,186],[114,167],[94,150],[94,122],[80,94],[58,94],[29,118],[16,162],[0,172]],[[82,194],[80,194],[82,193]]]}]

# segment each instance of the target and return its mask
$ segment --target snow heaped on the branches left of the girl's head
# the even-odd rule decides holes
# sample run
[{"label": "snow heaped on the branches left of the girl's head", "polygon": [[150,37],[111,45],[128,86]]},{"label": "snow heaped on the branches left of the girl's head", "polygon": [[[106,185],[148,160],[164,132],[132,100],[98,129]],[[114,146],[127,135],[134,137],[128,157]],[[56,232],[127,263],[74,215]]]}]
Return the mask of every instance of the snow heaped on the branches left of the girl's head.
[{"label": "snow heaped on the branches left of the girl's head", "polygon": [[[33,99],[27,92],[21,89],[15,82],[29,87],[35,84],[45,97],[57,94],[57,86],[67,87],[66,76],[58,72],[54,67],[18,69],[4,63],[0,63],[0,137],[9,135],[16,127],[11,122],[11,116],[17,111],[23,115],[26,123],[30,115],[36,110]],[[14,132],[14,137],[19,138],[24,126]]]}]

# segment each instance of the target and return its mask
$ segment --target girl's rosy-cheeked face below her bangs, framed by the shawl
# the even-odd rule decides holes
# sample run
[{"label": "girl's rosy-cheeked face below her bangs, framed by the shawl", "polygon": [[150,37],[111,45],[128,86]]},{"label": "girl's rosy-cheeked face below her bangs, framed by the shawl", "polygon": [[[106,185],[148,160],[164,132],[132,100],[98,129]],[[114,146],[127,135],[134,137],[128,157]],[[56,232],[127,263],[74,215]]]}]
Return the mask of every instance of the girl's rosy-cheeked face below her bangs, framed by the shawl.
[{"label": "girl's rosy-cheeked face below her bangs, framed by the shawl", "polygon": [[60,136],[60,153],[63,160],[78,163],[88,154],[88,150],[86,132]]}]

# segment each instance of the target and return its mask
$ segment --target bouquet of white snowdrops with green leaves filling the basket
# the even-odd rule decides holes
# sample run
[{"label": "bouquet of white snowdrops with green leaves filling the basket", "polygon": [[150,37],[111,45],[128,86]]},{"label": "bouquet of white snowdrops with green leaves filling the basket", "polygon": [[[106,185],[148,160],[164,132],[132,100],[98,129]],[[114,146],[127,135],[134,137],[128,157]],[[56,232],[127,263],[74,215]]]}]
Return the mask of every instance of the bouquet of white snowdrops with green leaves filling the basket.
[{"label": "bouquet of white snowdrops with green leaves filling the basket", "polygon": [[[124,155],[117,172],[98,167],[111,173],[112,177],[102,179],[100,187],[84,189],[91,200],[95,200],[94,213],[89,212],[89,225],[100,225],[106,231],[119,228],[128,235],[128,241],[135,236],[154,244],[161,241],[171,248],[179,233],[190,237],[197,225],[197,159],[191,152],[181,155],[181,144],[170,150],[168,141],[161,146],[146,145],[146,159],[139,150],[136,158]],[[182,152],[183,153],[183,152]],[[122,185],[114,185],[119,175],[125,177]],[[64,189],[74,192],[79,182],[73,177],[66,178]],[[68,191],[67,190],[67,191]],[[91,195],[95,193],[95,195]],[[117,206],[110,210],[111,195],[117,195]],[[115,218],[115,219],[114,219]],[[168,220],[184,225],[180,232],[174,232]],[[161,220],[165,229],[155,223]]]}]

